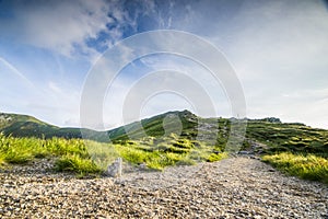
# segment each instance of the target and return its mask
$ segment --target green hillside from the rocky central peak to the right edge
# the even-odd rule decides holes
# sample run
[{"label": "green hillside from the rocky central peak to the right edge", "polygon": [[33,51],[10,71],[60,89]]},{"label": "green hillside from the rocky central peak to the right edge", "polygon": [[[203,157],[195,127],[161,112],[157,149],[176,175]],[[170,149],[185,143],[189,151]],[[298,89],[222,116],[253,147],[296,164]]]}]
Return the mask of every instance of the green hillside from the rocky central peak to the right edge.
[{"label": "green hillside from the rocky central peak to the right edge", "polygon": [[[196,140],[198,130],[202,130],[202,135],[209,135],[204,138],[203,143],[209,141],[208,143],[214,143],[215,147],[224,149],[233,118],[201,118],[188,111],[167,112],[141,120],[147,136],[155,138],[164,136],[163,122],[169,115],[176,115],[181,122],[180,138]],[[126,127],[109,130],[108,136],[113,141],[128,140],[130,137],[142,139],[144,136],[136,127],[136,123],[132,123]],[[166,127],[169,127],[167,123]],[[125,128],[129,131],[129,135],[126,134]],[[216,139],[213,141],[211,137]],[[242,149],[251,150],[253,152],[292,151],[319,153],[324,157],[328,154],[328,130],[312,128],[300,123],[281,123],[279,118],[273,117],[247,119],[245,137]]]}]

